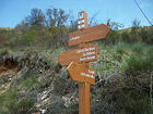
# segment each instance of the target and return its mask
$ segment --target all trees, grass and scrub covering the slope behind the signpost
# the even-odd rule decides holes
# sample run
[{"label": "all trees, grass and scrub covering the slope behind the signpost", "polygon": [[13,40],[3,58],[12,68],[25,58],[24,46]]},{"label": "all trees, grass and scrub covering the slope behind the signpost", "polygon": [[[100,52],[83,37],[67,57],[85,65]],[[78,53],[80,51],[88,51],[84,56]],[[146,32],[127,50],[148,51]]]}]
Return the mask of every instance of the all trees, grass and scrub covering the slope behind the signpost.
[{"label": "all trees, grass and scrub covering the slope behind the signpost", "polygon": [[[76,30],[76,20],[70,18],[61,9],[33,9],[15,28],[0,29],[0,91],[10,84],[0,92],[0,114],[78,114],[78,84],[56,61],[68,49],[69,33]],[[92,114],[152,114],[153,27],[142,27],[137,18],[126,29],[110,20],[106,24],[111,31],[96,42],[98,61],[91,63],[96,71]],[[10,56],[17,62],[11,81],[11,74],[1,75]]]}]

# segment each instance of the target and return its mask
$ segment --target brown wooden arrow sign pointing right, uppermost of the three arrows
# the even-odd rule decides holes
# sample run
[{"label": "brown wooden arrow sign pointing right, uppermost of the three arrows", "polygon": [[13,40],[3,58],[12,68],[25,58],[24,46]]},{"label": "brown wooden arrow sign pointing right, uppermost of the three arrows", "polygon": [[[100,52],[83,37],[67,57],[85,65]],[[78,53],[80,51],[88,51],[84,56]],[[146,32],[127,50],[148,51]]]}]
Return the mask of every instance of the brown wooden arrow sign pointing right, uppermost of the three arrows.
[{"label": "brown wooden arrow sign pointing right, uppermost of the three arrows", "polygon": [[69,34],[69,47],[104,39],[109,31],[110,28],[104,24],[73,31]]}]

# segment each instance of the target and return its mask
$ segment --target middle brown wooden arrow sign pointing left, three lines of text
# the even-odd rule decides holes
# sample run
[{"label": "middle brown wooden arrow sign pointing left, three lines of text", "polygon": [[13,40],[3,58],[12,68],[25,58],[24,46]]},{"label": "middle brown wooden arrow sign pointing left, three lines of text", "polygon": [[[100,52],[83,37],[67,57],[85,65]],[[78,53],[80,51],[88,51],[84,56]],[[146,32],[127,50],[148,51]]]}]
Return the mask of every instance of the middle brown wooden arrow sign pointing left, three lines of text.
[{"label": "middle brown wooden arrow sign pointing left, three lines of text", "polygon": [[69,65],[74,62],[92,62],[97,60],[97,46],[86,46],[74,50],[63,51],[58,58],[58,63],[61,65]]}]

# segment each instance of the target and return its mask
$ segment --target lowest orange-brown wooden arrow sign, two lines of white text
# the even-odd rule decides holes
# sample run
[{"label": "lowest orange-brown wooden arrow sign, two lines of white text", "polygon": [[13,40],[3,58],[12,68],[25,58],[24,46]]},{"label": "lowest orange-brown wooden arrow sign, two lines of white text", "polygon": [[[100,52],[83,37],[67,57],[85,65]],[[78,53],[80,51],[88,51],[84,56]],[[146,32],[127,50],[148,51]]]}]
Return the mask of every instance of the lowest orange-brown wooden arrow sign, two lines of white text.
[{"label": "lowest orange-brown wooden arrow sign, two lines of white text", "polygon": [[94,69],[85,67],[83,64],[71,62],[67,71],[72,80],[95,85],[95,71]]}]

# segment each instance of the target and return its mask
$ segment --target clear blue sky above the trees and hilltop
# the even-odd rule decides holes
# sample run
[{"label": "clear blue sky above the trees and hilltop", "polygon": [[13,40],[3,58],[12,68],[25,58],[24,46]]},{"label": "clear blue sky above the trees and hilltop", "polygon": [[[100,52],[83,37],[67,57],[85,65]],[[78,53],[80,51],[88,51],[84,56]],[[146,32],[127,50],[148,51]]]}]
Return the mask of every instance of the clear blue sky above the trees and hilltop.
[{"label": "clear blue sky above the trees and hilltop", "polygon": [[[153,23],[153,0],[137,1]],[[137,17],[142,26],[149,26],[133,0],[0,0],[0,27],[15,27],[32,9],[45,11],[49,7],[63,9],[75,17],[82,10],[87,12],[89,17],[97,13],[95,18],[98,24],[111,18],[129,27]]]}]

